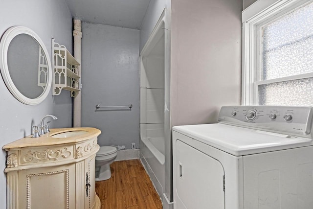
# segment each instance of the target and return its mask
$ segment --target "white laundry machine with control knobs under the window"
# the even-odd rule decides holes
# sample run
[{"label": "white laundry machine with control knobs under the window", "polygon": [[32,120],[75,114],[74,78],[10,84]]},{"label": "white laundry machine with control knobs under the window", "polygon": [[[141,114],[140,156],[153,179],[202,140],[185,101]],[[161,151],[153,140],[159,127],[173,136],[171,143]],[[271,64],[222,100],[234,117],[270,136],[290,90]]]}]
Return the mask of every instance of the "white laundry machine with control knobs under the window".
[{"label": "white laundry machine with control knobs under the window", "polygon": [[313,108],[224,106],[173,127],[174,209],[313,209]]}]

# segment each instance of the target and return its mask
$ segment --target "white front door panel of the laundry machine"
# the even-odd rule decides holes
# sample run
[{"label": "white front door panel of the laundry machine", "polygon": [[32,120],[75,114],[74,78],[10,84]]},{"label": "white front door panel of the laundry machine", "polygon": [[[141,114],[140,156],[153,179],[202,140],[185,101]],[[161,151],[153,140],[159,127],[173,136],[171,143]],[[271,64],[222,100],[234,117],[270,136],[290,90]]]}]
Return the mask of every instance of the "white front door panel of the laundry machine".
[{"label": "white front door panel of the laundry machine", "polygon": [[176,141],[174,188],[177,209],[224,209],[224,169],[216,159]]}]

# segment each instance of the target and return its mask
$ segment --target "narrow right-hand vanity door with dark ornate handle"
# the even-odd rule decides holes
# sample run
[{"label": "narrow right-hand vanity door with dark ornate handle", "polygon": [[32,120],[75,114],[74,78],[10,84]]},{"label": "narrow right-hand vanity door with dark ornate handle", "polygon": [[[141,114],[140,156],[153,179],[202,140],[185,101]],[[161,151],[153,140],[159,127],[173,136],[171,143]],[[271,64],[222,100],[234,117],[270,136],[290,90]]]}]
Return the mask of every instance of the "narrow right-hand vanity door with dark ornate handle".
[{"label": "narrow right-hand vanity door with dark ornate handle", "polygon": [[85,160],[85,209],[92,209],[95,204],[95,155]]}]

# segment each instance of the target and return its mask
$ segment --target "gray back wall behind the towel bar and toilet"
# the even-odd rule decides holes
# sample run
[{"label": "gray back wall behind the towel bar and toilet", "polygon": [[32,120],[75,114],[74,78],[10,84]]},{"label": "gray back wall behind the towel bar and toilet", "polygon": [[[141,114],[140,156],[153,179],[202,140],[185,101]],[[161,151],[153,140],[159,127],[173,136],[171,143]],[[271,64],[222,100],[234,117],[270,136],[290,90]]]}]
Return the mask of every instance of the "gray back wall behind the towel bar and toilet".
[{"label": "gray back wall behind the towel bar and toilet", "polygon": [[[139,30],[82,23],[82,126],[102,131],[100,146],[139,147]],[[129,105],[101,109],[95,105]]]}]

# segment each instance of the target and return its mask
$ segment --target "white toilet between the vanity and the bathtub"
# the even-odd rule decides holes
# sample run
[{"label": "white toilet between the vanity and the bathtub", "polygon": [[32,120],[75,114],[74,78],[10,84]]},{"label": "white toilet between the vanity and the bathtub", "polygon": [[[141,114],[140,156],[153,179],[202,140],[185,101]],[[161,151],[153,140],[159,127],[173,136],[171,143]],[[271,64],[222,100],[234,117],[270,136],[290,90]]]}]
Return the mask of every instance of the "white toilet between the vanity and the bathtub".
[{"label": "white toilet between the vanity and the bathtub", "polygon": [[104,181],[111,178],[110,164],[117,156],[116,147],[101,146],[96,154],[96,181]]}]

